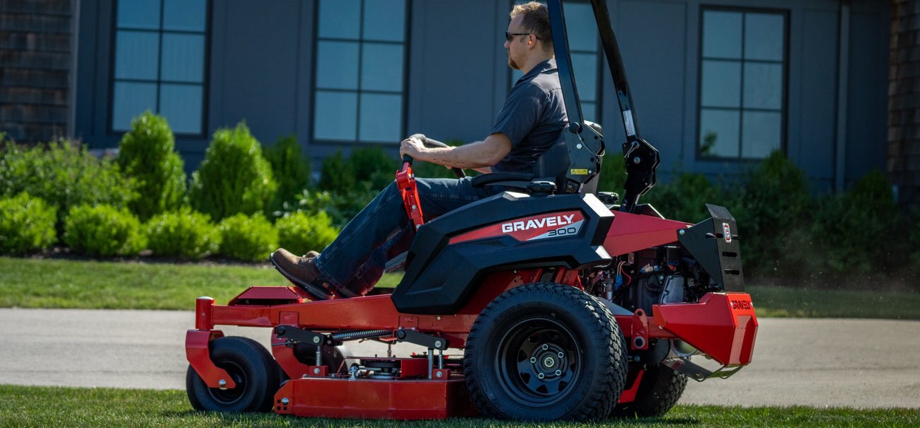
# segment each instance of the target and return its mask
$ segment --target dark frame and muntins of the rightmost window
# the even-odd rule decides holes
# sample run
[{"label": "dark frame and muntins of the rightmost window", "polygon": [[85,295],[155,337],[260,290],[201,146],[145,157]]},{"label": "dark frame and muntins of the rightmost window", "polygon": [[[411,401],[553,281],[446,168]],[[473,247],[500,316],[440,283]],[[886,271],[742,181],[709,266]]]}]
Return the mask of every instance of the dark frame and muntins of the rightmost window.
[{"label": "dark frame and muntins of the rightmost window", "polygon": [[[703,56],[703,43],[704,43],[704,15],[707,11],[716,11],[716,12],[738,12],[742,14],[742,54],[741,58],[737,60],[737,63],[741,67],[741,86],[739,94],[740,104],[737,109],[724,108],[724,110],[737,111],[740,115],[738,121],[738,156],[718,156],[718,155],[706,155],[702,151],[702,137],[700,132],[702,131],[702,116],[703,116],[703,62],[707,60]],[[699,24],[697,26],[698,35],[697,38],[697,54],[696,54],[696,130],[694,133],[694,155],[697,161],[734,161],[742,163],[753,163],[760,162],[766,158],[763,157],[745,157],[743,156],[742,148],[744,146],[743,141],[743,132],[744,132],[744,112],[745,111],[759,111],[760,109],[745,109],[744,107],[744,64],[746,63],[764,63],[763,60],[746,60],[744,58],[744,29],[746,28],[746,15],[747,14],[766,14],[766,15],[778,15],[783,18],[783,54],[782,54],[782,82],[781,82],[781,100],[779,103],[779,121],[780,121],[780,130],[779,130],[779,146],[776,149],[782,151],[783,153],[788,153],[788,99],[789,99],[789,21],[791,13],[788,9],[780,8],[769,8],[769,7],[744,7],[744,6],[724,6],[724,5],[700,5],[699,6]],[[713,58],[709,58],[713,59]],[[718,58],[715,58],[718,59]],[[721,60],[725,60],[724,58]],[[727,60],[734,61],[734,60]],[[775,64],[775,63],[773,63]]]}]

